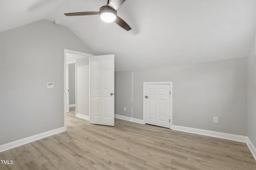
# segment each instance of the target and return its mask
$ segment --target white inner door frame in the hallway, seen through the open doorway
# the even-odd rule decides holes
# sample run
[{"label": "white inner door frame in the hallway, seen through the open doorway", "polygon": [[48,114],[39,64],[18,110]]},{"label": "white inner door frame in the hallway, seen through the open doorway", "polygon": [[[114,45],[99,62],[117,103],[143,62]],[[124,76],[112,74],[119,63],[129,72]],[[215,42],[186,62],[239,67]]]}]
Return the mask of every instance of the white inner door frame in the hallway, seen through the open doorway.
[{"label": "white inner door frame in the hallway, seen through the open doorway", "polygon": [[[66,76],[66,87],[67,90],[69,89],[69,65],[70,64],[75,64],[75,103],[76,103],[76,60],[74,61],[69,61],[66,63],[66,69],[67,69],[67,76]],[[75,104],[76,105],[76,104]],[[69,112],[69,92],[66,94],[66,113]]]}]

